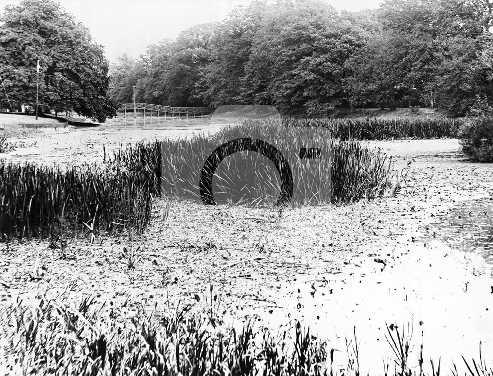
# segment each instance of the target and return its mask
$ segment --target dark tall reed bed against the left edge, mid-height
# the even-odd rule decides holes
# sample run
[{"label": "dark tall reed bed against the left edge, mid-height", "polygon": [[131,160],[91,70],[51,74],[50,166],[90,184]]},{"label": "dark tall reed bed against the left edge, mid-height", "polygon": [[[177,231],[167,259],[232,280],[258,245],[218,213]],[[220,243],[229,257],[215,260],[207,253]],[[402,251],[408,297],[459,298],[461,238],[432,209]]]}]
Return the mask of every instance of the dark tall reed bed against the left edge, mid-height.
[{"label": "dark tall reed bed against the left edge, mid-height", "polygon": [[74,225],[92,235],[150,219],[152,186],[141,170],[117,164],[70,168],[0,161],[0,237],[63,236]]}]

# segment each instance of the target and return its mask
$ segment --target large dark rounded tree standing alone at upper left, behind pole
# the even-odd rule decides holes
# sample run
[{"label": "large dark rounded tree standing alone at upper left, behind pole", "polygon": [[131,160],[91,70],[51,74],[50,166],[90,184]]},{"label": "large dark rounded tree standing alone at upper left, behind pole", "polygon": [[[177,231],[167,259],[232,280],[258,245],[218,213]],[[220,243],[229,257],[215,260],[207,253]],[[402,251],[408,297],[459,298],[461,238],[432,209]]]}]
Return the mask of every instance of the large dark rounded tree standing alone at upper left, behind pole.
[{"label": "large dark rounded tree standing alone at upper left, behind pole", "polygon": [[109,99],[108,61],[89,30],[51,0],[24,0],[0,16],[0,74],[11,102],[73,110],[98,121],[114,114]]}]

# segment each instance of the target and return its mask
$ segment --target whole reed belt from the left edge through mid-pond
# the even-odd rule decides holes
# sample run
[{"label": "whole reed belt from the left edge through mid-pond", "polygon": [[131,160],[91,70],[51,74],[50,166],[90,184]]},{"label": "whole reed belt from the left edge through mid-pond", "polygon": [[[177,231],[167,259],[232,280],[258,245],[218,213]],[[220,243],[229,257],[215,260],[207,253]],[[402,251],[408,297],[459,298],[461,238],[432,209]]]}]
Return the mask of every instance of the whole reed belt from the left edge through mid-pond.
[{"label": "whole reed belt from the left edge through mid-pond", "polygon": [[[139,232],[149,223],[153,197],[162,194],[162,187],[178,199],[197,198],[205,159],[218,142],[238,133],[273,139],[286,155],[296,154],[300,143],[318,142],[327,150],[321,163],[292,164],[294,205],[371,200],[399,188],[392,162],[379,152],[355,140],[291,137],[293,129],[299,127],[247,122],[208,136],[141,142],[102,164],[68,168],[0,160],[0,239],[60,238],[73,228],[91,239],[101,230]],[[280,190],[272,163],[256,153],[237,154],[216,171],[215,192],[235,204],[272,205]]]}]

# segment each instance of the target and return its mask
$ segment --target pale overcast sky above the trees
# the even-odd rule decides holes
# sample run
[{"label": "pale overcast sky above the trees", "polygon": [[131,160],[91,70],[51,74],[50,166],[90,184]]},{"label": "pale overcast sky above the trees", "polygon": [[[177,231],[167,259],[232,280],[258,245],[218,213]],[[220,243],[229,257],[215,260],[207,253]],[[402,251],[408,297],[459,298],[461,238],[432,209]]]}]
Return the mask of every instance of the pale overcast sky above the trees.
[{"label": "pale overcast sky above the trees", "polygon": [[[325,0],[336,9],[378,8],[381,0]],[[0,0],[0,12],[20,0]],[[197,24],[222,20],[238,5],[251,0],[59,0],[105,46],[106,57],[115,61],[127,53],[138,57],[147,45],[174,39]]]}]

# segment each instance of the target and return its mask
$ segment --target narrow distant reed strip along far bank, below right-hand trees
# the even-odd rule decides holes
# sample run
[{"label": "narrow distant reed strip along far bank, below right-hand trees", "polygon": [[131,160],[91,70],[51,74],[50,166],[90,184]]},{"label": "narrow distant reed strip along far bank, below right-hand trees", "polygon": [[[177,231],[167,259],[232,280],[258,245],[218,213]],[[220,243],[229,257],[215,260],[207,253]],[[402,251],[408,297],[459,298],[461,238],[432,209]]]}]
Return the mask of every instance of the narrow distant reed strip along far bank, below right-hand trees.
[{"label": "narrow distant reed strip along far bank, below right-hand trees", "polygon": [[320,126],[327,128],[332,137],[341,140],[394,140],[456,138],[461,119],[379,119],[375,117],[354,119],[300,119],[284,118],[290,126]]}]

